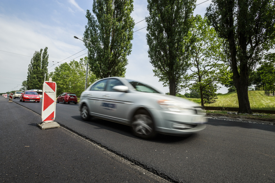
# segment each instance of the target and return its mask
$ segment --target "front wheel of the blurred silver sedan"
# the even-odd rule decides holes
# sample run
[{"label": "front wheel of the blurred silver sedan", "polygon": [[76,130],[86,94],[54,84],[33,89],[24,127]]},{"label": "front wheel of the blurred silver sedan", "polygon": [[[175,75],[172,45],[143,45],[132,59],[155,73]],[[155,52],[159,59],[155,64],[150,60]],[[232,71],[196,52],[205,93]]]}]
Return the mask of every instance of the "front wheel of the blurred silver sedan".
[{"label": "front wheel of the blurred silver sedan", "polygon": [[132,118],[132,131],[134,135],[143,139],[150,139],[156,135],[154,122],[146,110],[138,110],[135,113]]}]

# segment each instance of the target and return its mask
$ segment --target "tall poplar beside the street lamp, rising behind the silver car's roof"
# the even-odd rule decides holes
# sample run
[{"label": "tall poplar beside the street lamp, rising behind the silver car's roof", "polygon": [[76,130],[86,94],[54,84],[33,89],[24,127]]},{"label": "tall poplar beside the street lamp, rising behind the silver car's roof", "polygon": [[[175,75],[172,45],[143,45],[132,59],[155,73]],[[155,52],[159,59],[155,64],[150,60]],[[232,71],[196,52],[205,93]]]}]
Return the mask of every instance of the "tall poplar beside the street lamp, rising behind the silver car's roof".
[{"label": "tall poplar beside the street lamp, rising behind the silver car's roof", "polygon": [[124,77],[133,40],[133,0],[94,0],[87,10],[84,43],[89,49],[90,69],[98,78]]}]

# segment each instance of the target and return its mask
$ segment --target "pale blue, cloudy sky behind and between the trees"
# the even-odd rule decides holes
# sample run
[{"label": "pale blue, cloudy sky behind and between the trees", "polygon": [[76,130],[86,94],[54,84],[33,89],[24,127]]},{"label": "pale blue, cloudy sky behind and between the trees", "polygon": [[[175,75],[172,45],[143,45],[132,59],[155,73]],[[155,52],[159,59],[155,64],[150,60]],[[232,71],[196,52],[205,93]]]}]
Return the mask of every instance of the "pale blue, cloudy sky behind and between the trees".
[{"label": "pale blue, cloudy sky behind and between the trees", "polygon": [[[204,1],[197,0],[196,4],[203,3],[197,5],[194,15],[204,16],[211,0]],[[31,58],[41,48],[48,47],[49,72],[60,63],[87,56],[83,42],[74,36],[82,39],[87,25],[86,10],[92,12],[92,4],[93,0],[0,0],[0,93],[21,88],[22,81],[27,79]],[[134,0],[131,16],[135,22],[149,16],[147,0]],[[134,32],[125,76],[149,84],[163,93],[169,92],[169,88],[163,87],[152,71],[144,27],[145,20],[134,27],[134,31],[138,31]],[[227,93],[227,88],[217,92]],[[184,94],[184,91],[181,93]]]}]

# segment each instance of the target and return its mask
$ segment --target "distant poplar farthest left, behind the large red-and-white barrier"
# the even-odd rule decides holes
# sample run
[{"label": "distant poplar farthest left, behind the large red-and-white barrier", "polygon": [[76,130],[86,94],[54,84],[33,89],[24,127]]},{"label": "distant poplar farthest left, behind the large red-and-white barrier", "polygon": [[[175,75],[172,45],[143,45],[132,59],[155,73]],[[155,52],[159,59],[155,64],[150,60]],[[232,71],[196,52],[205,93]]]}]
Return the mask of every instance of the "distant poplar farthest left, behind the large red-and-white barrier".
[{"label": "distant poplar farthest left, behind the large red-and-white barrier", "polygon": [[43,88],[43,82],[45,78],[48,76],[48,48],[46,47],[40,49],[40,52],[35,51],[33,57],[31,58],[31,63],[28,68],[28,76],[27,76],[27,90],[30,89],[40,89]]}]

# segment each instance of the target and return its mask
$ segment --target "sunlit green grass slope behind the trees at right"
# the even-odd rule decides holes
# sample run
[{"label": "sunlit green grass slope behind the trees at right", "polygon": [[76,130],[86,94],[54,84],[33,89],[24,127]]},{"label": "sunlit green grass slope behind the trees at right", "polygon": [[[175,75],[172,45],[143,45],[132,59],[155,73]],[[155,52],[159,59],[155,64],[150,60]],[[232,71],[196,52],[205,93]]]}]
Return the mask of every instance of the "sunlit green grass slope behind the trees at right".
[{"label": "sunlit green grass slope behind the trees at right", "polygon": [[[265,91],[248,91],[248,98],[251,109],[275,110],[275,97],[266,96]],[[189,99],[189,98],[185,98]],[[193,102],[200,103],[200,99],[189,99]],[[213,107],[239,107],[239,102],[236,92],[230,92],[218,95],[216,102],[204,104],[204,106]]]}]

